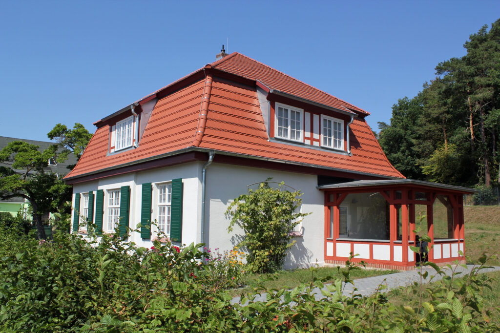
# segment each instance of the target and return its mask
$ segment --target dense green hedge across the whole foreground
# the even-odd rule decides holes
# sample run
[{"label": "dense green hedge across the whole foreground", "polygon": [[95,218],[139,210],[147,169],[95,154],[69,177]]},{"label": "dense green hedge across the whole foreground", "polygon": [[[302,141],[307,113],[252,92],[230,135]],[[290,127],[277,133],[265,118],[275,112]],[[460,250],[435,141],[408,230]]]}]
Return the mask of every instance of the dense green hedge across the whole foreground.
[{"label": "dense green hedge across the whole foreground", "polygon": [[[134,230],[131,230],[134,231]],[[138,231],[138,230],[135,230]],[[471,331],[500,329],[485,310],[481,292],[490,280],[456,274],[427,286],[416,283],[403,305],[391,304],[384,285],[371,296],[342,294],[359,270],[350,261],[338,268],[340,278],[314,277],[292,290],[256,288],[231,303],[213,287],[215,267],[201,265],[202,244],[176,247],[154,242],[136,247],[104,234],[100,241],[89,228],[88,240],[55,232],[53,241],[9,234],[0,228],[0,330],[53,332],[239,332],[239,331]],[[432,263],[434,274],[444,271]],[[448,267],[453,269],[452,266]],[[428,270],[421,270],[423,277]],[[314,288],[323,298],[316,300]],[[266,292],[264,301],[254,300]]]}]

